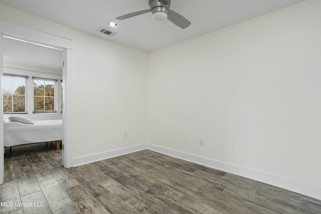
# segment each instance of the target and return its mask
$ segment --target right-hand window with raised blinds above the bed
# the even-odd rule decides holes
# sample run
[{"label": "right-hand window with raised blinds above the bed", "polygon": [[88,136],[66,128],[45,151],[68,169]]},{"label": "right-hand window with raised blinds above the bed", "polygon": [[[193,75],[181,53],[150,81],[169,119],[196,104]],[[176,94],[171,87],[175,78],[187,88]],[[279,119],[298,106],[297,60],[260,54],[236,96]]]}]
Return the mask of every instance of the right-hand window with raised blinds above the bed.
[{"label": "right-hand window with raised blinds above the bed", "polygon": [[33,77],[34,113],[57,112],[57,80]]}]

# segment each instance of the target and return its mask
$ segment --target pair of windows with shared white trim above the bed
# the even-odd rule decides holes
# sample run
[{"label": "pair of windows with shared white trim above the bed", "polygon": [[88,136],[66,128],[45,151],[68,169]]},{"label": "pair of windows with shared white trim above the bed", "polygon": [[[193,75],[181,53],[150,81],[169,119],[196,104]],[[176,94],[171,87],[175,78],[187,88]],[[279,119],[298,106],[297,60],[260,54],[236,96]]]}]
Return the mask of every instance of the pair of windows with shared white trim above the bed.
[{"label": "pair of windows with shared white trim above the bed", "polygon": [[5,119],[10,114],[35,120],[62,116],[61,75],[4,68],[3,92]]}]

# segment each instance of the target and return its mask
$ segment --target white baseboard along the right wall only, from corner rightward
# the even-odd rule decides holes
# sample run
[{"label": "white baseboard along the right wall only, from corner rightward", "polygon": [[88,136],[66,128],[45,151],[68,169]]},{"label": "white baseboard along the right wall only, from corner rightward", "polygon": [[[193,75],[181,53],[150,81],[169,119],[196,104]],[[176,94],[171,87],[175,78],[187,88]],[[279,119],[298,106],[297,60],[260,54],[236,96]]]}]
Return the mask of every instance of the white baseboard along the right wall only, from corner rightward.
[{"label": "white baseboard along the right wall only, from corner rightward", "polygon": [[147,144],[147,149],[169,156],[177,157],[183,160],[187,160],[190,162],[198,163],[221,171],[240,175],[263,183],[271,184],[277,187],[281,187],[290,191],[294,191],[321,200],[320,186],[315,186],[308,183],[292,180],[289,178],[280,177],[278,175],[269,174],[266,172],[261,172],[238,165],[224,163],[152,144]]}]

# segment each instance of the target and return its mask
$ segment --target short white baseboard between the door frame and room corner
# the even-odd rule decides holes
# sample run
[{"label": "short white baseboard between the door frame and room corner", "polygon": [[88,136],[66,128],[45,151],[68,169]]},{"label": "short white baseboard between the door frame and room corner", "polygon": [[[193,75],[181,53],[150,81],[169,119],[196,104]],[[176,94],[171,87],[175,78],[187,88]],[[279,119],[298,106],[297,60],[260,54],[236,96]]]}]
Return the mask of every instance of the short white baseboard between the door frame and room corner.
[{"label": "short white baseboard between the door frame and room corner", "polygon": [[84,157],[78,157],[78,158],[74,158],[72,160],[72,162],[73,162],[72,165],[79,166],[79,165],[83,165],[83,164],[87,164],[87,163],[96,162],[99,160],[108,159],[111,157],[117,157],[120,155],[144,150],[146,148],[147,148],[147,144],[140,144],[140,145],[136,145],[136,146],[130,146],[130,147],[116,149],[116,150],[107,151],[107,152],[102,152],[102,153],[98,153],[98,154],[92,154],[92,155],[88,155],[88,156],[84,156]]}]

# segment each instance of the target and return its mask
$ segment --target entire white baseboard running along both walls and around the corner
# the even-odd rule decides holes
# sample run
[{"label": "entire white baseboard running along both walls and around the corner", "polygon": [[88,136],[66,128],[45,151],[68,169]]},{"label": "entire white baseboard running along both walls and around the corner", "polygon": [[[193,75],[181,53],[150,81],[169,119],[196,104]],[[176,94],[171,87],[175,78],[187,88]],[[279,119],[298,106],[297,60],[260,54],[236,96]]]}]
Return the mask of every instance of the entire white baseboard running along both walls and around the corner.
[{"label": "entire white baseboard running along both walls and around the corner", "polygon": [[104,160],[111,157],[116,157],[116,156],[120,156],[128,153],[144,150],[144,149],[149,149],[155,152],[177,157],[190,162],[198,163],[214,169],[240,175],[240,176],[257,180],[260,182],[268,183],[274,186],[278,186],[284,189],[288,189],[290,191],[294,191],[294,192],[321,200],[320,186],[315,186],[308,183],[292,180],[289,178],[280,177],[278,175],[273,175],[266,172],[245,168],[238,165],[224,163],[224,162],[196,156],[193,154],[188,154],[188,153],[176,151],[165,147],[152,145],[152,144],[140,144],[136,146],[130,146],[130,147],[116,149],[116,150],[107,151],[103,153],[93,154],[85,157],[75,158],[73,159],[73,166],[79,166],[79,165],[83,165],[83,164],[87,164],[87,163],[91,163],[99,160]]}]

